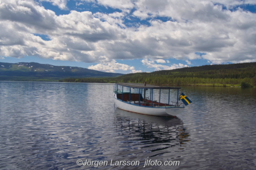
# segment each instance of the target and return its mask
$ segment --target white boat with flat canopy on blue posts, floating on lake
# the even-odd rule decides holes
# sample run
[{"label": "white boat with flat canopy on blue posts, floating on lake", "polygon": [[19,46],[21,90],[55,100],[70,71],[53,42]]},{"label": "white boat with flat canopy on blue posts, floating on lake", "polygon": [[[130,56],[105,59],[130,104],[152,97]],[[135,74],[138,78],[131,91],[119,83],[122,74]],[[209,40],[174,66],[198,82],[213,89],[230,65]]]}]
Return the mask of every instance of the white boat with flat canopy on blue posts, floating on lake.
[{"label": "white boat with flat canopy on blue posts, floating on lake", "polygon": [[155,86],[146,82],[116,83],[113,96],[115,106],[119,109],[147,115],[175,117],[185,108],[184,103],[179,103],[181,95],[179,89],[181,88]]}]

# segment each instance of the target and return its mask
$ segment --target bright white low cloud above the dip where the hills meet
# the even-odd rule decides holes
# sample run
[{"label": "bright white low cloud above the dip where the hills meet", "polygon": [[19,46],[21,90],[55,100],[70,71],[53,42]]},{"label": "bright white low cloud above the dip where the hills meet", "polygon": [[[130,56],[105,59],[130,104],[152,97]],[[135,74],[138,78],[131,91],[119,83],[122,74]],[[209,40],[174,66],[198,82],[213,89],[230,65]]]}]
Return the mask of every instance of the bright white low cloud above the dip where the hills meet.
[{"label": "bright white low cloud above the dip where the hills meet", "polygon": [[88,67],[89,69],[104,71],[104,72],[115,72],[115,70],[131,70],[131,72],[142,72],[141,70],[135,70],[134,66],[129,66],[127,64],[117,63],[115,60],[106,63],[100,63],[96,65],[91,65]]}]

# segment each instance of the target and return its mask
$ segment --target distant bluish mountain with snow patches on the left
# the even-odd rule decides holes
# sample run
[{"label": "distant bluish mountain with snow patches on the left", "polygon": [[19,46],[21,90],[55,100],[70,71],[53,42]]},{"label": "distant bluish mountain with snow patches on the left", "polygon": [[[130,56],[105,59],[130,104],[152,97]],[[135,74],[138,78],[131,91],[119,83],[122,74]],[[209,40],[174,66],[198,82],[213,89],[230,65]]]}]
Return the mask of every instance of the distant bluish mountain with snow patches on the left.
[{"label": "distant bluish mountain with snow patches on the left", "polygon": [[0,81],[58,81],[65,78],[117,77],[123,74],[102,72],[88,68],[55,66],[35,62],[0,62]]}]

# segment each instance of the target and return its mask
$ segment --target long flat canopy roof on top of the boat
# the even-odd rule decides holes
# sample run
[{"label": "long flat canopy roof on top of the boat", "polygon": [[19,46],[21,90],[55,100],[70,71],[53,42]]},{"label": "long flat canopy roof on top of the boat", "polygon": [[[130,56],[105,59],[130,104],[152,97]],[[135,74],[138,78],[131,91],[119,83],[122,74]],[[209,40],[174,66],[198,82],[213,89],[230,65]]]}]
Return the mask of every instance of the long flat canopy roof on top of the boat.
[{"label": "long flat canopy roof on top of the boat", "polygon": [[148,89],[180,89],[180,87],[166,87],[166,86],[154,86],[150,84],[144,85],[143,83],[116,83],[117,85],[132,87],[132,88],[148,88]]}]

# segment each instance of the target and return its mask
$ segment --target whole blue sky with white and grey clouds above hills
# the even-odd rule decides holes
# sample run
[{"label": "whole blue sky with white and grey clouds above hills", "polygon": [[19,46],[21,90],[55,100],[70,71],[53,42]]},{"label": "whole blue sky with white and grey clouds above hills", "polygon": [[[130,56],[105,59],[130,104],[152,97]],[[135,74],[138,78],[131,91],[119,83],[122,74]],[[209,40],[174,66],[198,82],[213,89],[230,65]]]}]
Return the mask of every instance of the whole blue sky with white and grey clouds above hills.
[{"label": "whole blue sky with white and grey clouds above hills", "polygon": [[255,0],[1,0],[0,62],[129,74],[256,62]]}]

